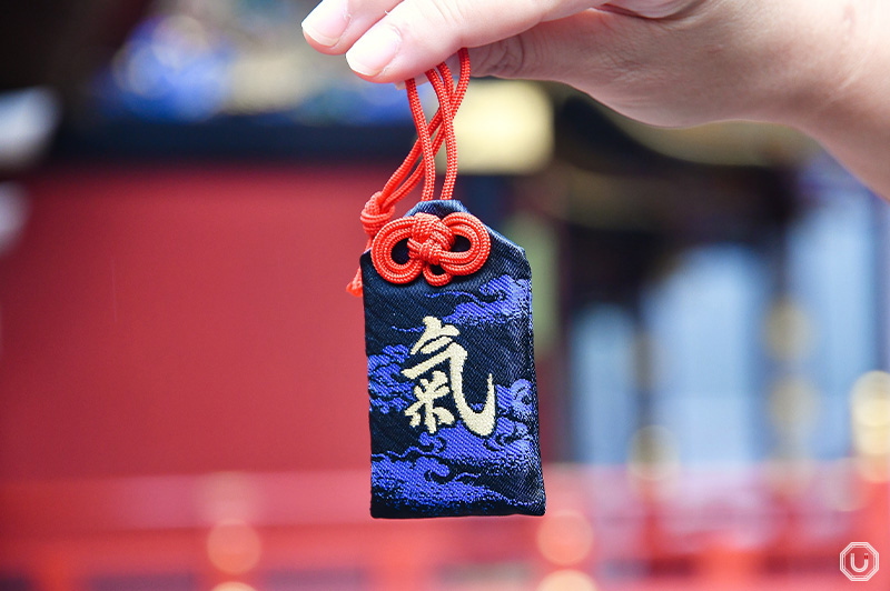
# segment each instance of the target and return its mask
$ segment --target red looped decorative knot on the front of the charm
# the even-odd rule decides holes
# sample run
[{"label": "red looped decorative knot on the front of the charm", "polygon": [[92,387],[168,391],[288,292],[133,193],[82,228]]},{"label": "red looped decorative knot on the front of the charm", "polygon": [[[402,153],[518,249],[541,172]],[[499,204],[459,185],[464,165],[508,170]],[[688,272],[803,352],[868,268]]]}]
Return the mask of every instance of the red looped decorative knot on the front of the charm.
[{"label": "red looped decorative knot on the front of the charm", "polygon": [[[468,250],[451,250],[457,236],[469,241]],[[393,259],[393,249],[406,239],[408,260],[398,263]],[[423,272],[431,286],[441,287],[454,276],[468,276],[482,269],[491,250],[488,230],[469,213],[455,212],[444,218],[415,213],[384,226],[370,247],[370,258],[380,277],[390,283],[408,283]],[[443,272],[434,272],[433,267]]]}]

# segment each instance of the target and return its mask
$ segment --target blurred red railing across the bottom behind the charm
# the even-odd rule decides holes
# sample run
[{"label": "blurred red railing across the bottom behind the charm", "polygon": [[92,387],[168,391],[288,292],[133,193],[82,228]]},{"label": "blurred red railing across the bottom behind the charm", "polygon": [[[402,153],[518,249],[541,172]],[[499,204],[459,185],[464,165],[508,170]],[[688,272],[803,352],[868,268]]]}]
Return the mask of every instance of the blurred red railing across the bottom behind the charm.
[{"label": "blurred red railing across the bottom behind the charm", "polygon": [[659,495],[548,467],[544,518],[407,521],[368,517],[364,471],[4,483],[0,572],[40,591],[848,589],[849,542],[890,549],[887,487],[827,497],[823,468],[793,493],[740,470]]}]

